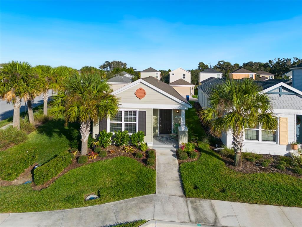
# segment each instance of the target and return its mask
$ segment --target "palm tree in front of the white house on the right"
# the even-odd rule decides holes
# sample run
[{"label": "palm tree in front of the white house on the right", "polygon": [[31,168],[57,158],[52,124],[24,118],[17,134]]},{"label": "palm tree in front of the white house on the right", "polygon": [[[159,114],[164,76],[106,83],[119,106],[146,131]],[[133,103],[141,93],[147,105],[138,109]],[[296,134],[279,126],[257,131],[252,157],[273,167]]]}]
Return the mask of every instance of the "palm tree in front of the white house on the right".
[{"label": "palm tree in front of the white house on the right", "polygon": [[276,129],[277,118],[272,109],[270,98],[253,80],[226,80],[213,88],[209,107],[201,110],[199,116],[212,135],[233,133],[234,164],[241,168],[244,130],[258,125],[264,130]]}]

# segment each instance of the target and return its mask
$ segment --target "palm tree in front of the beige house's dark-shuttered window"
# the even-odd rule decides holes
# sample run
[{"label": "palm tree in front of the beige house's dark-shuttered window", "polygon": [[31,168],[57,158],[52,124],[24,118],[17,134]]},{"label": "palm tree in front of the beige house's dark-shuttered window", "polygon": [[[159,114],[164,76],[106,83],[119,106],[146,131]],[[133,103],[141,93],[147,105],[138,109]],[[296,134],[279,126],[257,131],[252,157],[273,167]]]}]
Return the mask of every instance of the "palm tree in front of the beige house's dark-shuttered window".
[{"label": "palm tree in front of the beige house's dark-shuttered window", "polygon": [[52,114],[56,118],[63,114],[66,121],[81,124],[81,154],[87,154],[90,122],[113,116],[117,111],[118,99],[111,91],[98,74],[74,73],[65,81],[64,90],[53,96]]}]

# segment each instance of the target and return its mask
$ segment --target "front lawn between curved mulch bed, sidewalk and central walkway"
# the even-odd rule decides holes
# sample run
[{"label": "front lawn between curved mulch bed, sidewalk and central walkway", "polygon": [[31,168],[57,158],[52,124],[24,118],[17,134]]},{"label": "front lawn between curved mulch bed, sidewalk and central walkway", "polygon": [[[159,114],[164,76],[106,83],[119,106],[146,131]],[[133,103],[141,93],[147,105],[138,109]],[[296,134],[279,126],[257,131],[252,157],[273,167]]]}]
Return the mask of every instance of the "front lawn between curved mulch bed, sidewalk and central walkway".
[{"label": "front lawn between curved mulch bed, sidewalk and central walkway", "polygon": [[[120,156],[72,169],[40,191],[33,190],[31,184],[2,186],[1,212],[69,209],[152,194],[155,177],[155,170]],[[89,194],[100,198],[84,201]]]}]

